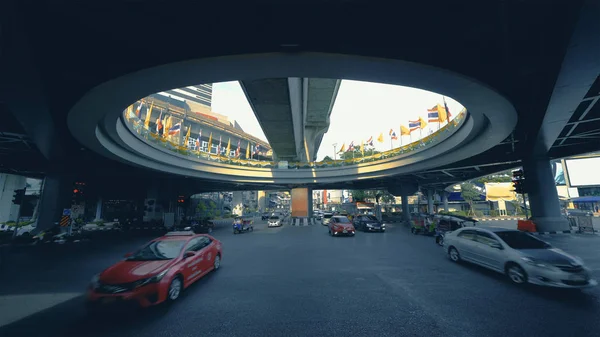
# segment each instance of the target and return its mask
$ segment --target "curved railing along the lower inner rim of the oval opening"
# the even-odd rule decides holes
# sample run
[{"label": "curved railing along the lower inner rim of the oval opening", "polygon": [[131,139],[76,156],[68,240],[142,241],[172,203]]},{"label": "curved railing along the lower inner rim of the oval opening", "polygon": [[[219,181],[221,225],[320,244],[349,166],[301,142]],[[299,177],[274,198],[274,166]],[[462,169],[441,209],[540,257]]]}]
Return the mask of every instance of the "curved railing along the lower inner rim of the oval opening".
[{"label": "curved railing along the lower inner rim of the oval opening", "polygon": [[[255,160],[255,159],[243,159],[240,157],[228,157],[225,155],[217,155],[213,153],[208,153],[205,151],[198,151],[195,149],[191,149],[186,146],[181,146],[178,143],[168,139],[157,132],[153,132],[151,128],[146,127],[144,125],[144,121],[135,115],[127,115],[128,111],[125,110],[123,112],[123,121],[125,125],[128,126],[130,131],[135,134],[138,138],[154,144],[157,147],[164,148],[167,151],[171,151],[174,153],[178,153],[180,155],[188,156],[191,158],[203,159],[208,161],[219,162],[223,164],[229,165],[237,165],[237,166],[248,166],[248,167],[257,167],[257,168],[279,168],[285,169],[286,165],[284,162],[275,162],[275,161],[265,161],[265,160]],[[400,155],[404,155],[406,153],[410,153],[416,150],[424,149],[426,147],[433,146],[442,142],[446,139],[446,136],[454,133],[458,128],[462,126],[466,117],[468,116],[468,111],[463,109],[452,121],[449,121],[446,125],[440,127],[439,130],[431,133],[430,135],[423,137],[417,141],[411,142],[409,144],[384,151],[378,153],[372,153],[370,155],[365,156],[357,156],[355,158],[348,159],[338,159],[338,160],[327,160],[327,161],[318,161],[318,162],[288,162],[287,169],[314,169],[314,168],[328,168],[328,167],[340,167],[340,166],[348,166],[348,165],[357,165],[361,163],[370,163],[378,160],[383,160],[387,158],[393,158]],[[366,151],[368,153],[368,151]],[[243,154],[242,154],[243,155]],[[283,167],[280,165],[283,164]]]}]

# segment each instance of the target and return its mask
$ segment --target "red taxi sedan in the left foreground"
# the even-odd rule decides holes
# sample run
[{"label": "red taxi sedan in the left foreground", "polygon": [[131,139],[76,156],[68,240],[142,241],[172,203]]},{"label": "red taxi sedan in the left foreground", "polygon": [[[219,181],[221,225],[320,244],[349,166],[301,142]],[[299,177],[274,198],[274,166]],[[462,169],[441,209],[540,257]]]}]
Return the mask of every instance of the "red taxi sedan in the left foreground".
[{"label": "red taxi sedan in the left foreground", "polygon": [[87,291],[88,308],[174,301],[190,284],[219,269],[221,256],[221,242],[210,235],[167,233],[94,276]]}]

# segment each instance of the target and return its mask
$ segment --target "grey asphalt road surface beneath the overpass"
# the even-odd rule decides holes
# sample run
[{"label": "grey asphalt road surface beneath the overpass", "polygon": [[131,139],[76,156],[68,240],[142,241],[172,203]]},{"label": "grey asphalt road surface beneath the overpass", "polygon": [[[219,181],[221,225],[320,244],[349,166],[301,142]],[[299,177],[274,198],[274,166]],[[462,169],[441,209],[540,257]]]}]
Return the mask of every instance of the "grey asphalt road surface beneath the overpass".
[{"label": "grey asphalt road surface beneath the overpass", "polygon": [[[433,238],[402,225],[348,238],[329,237],[320,225],[265,227],[240,235],[215,231],[224,247],[218,272],[171,306],[116,317],[87,315],[81,294],[93,274],[145,239],[14,253],[0,277],[0,317],[12,317],[0,336],[581,337],[600,331],[600,289],[515,287],[502,275],[453,264]],[[581,256],[600,279],[600,237],[545,239]]]}]

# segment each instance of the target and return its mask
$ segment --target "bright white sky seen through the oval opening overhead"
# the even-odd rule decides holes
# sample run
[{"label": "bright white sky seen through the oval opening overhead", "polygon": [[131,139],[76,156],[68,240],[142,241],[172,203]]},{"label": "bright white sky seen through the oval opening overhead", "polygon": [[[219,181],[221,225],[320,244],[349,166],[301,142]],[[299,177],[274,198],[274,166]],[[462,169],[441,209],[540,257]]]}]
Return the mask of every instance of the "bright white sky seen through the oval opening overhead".
[{"label": "bright white sky seen through the oval opening overhead", "polygon": [[[400,135],[400,125],[408,127],[409,120],[423,117],[427,120],[427,109],[435,104],[443,103],[440,94],[389,84],[371,83],[342,80],[338,96],[331,112],[329,130],[323,136],[317,160],[325,156],[334,157],[333,144],[337,144],[339,151],[343,144],[348,147],[350,142],[360,145],[373,137],[375,149],[387,151],[393,145],[400,146],[400,140],[390,144],[389,131],[393,129]],[[463,106],[450,97],[446,103],[453,117],[463,109]],[[235,119],[244,131],[266,140],[248,101],[238,82],[222,82],[213,84],[212,110]],[[437,123],[429,125],[422,131],[423,136],[429,133],[430,128],[437,130]],[[377,137],[383,133],[384,142],[378,143]],[[419,138],[415,131],[413,141]],[[410,142],[404,136],[403,144]]]}]

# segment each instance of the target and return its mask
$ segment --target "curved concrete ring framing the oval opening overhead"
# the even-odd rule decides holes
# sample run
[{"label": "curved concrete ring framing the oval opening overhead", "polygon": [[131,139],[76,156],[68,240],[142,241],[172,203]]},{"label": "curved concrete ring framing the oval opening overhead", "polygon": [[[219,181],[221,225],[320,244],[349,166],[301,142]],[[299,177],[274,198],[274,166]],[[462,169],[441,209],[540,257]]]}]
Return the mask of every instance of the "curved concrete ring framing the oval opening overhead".
[{"label": "curved concrete ring framing the oval opening overhead", "polygon": [[[342,78],[416,87],[453,97],[470,113],[445,141],[422,151],[379,162],[315,170],[192,161],[142,142],[120,120],[124,107],[154,92],[197,83],[281,77]],[[464,76],[410,62],[321,53],[230,56],[146,69],[94,88],[73,107],[68,120],[71,132],[80,142],[132,165],[228,182],[274,184],[370,179],[447,165],[497,145],[512,132],[516,122],[516,111],[510,102]]]}]

